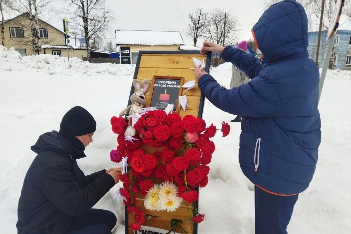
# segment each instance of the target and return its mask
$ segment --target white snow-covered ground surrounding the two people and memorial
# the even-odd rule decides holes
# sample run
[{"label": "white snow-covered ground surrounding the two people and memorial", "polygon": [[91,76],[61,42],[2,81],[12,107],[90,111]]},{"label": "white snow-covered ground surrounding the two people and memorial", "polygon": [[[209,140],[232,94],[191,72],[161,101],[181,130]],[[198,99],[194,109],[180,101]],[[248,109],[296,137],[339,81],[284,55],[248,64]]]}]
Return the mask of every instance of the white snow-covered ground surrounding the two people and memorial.
[{"label": "white snow-covered ground surrounding the two people and memorial", "polygon": [[[97,121],[87,158],[78,160],[92,173],[116,166],[109,153],[116,142],[110,118],[127,105],[133,65],[68,63],[53,55],[20,58],[0,46],[0,233],[16,233],[17,204],[26,171],[35,157],[30,150],[38,136],[58,130],[62,116],[73,106],[86,108]],[[231,65],[211,74],[229,86]],[[322,143],[310,187],[300,194],[289,233],[351,233],[351,72],[328,71],[319,110]],[[219,117],[220,116],[220,117]],[[205,102],[204,119],[220,126],[235,116]],[[199,233],[254,233],[252,185],[238,164],[240,123],[232,123],[227,138],[218,134],[207,187],[200,191],[200,212],[206,215]],[[112,210],[118,219],[115,234],[124,234],[124,206],[112,200],[118,185],[95,207]]]}]

